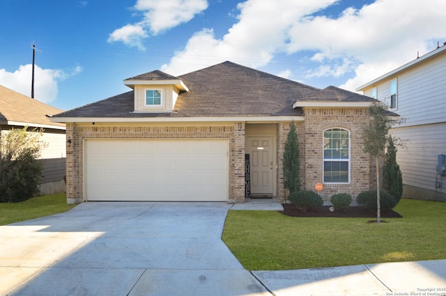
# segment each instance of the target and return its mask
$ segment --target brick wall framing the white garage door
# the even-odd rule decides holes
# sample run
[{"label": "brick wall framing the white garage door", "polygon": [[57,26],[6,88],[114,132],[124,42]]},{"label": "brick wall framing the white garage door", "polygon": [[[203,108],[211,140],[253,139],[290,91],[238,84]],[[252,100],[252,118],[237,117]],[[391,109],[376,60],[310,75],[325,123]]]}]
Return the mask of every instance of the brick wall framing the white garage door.
[{"label": "brick wall framing the white garage door", "polygon": [[[83,140],[101,139],[162,139],[162,138],[227,138],[229,139],[229,200],[245,201],[245,123],[224,123],[212,126],[176,124],[67,124],[67,201],[77,204],[84,200]],[[70,141],[71,140],[71,141]]]}]

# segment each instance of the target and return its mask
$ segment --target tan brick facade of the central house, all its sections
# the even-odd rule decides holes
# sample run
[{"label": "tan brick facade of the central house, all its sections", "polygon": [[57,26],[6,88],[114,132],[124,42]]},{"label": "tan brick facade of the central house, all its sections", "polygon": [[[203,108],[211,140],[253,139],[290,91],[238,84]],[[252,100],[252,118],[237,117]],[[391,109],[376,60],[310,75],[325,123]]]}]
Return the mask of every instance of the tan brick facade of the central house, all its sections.
[{"label": "tan brick facade of the central house, all its sections", "polygon": [[[367,120],[367,108],[305,108],[305,121],[295,122],[300,145],[300,180],[302,190],[314,190],[323,183],[323,131],[346,129],[351,135],[351,182],[324,184],[321,196],[325,201],[336,193],[346,192],[355,197],[373,188],[376,179],[367,154],[362,151],[361,128]],[[278,122],[277,173],[275,197],[284,202],[283,155],[291,122]],[[245,202],[245,122],[213,124],[151,124],[98,123],[66,126],[67,137],[67,200],[75,204],[84,200],[83,140],[89,138],[168,139],[168,138],[226,138],[229,140],[229,202]]]}]

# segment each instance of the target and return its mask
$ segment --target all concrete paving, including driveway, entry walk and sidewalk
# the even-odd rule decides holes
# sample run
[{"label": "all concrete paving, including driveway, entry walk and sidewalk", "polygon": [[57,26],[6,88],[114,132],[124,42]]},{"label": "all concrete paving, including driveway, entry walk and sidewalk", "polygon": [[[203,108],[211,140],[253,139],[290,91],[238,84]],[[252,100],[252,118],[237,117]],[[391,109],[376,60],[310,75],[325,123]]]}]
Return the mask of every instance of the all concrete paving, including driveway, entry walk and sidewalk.
[{"label": "all concrete paving, including driveway, entry walk and sidewalk", "polygon": [[85,203],[67,213],[2,226],[0,294],[446,293],[441,290],[446,260],[249,272],[221,240],[229,209],[277,211],[282,206],[268,199],[233,205]]}]

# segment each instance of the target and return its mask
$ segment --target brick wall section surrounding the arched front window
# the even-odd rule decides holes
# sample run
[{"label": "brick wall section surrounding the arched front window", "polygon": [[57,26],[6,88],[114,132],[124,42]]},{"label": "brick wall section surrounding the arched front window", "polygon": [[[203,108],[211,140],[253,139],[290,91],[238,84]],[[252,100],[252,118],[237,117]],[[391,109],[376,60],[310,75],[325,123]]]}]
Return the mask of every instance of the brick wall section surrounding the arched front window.
[{"label": "brick wall section surrounding the arched front window", "polygon": [[305,189],[314,190],[316,183],[323,183],[323,131],[341,128],[351,136],[351,183],[325,183],[321,196],[325,201],[336,193],[353,197],[369,190],[370,160],[362,151],[362,124],[367,121],[367,108],[305,108]]}]

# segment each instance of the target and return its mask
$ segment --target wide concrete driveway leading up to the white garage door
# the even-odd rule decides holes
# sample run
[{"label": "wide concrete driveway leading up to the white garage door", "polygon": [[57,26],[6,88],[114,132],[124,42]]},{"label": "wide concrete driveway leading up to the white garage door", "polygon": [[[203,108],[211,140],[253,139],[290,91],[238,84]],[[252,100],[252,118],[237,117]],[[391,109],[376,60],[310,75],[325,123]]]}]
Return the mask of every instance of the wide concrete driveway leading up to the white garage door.
[{"label": "wide concrete driveway leading up to the white garage door", "polygon": [[0,294],[270,295],[221,240],[229,208],[89,202],[0,227]]}]

